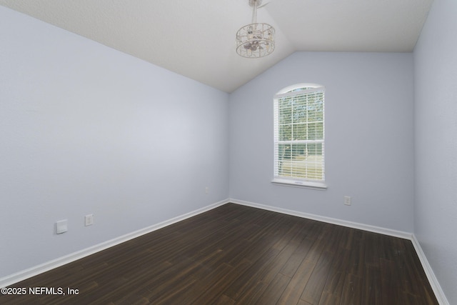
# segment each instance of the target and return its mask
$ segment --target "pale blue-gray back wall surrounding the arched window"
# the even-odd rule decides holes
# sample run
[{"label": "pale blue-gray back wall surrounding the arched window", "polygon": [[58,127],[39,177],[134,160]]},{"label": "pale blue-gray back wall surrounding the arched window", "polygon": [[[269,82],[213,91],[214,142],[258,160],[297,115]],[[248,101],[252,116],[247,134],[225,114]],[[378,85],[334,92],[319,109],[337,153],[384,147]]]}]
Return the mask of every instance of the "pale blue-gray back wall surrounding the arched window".
[{"label": "pale blue-gray back wall surrounding the arched window", "polygon": [[[326,191],[271,184],[273,95],[303,82],[326,86]],[[412,232],[412,109],[412,54],[296,52],[230,96],[230,196]]]}]

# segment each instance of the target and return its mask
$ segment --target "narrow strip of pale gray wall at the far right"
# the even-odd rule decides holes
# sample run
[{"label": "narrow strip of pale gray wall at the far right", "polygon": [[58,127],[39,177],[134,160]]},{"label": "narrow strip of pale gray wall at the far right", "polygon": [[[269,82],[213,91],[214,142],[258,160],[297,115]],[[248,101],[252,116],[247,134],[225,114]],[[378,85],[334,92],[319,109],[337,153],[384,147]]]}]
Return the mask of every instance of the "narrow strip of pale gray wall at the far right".
[{"label": "narrow strip of pale gray wall at the far right", "polygon": [[457,304],[457,1],[435,1],[414,50],[414,233]]}]

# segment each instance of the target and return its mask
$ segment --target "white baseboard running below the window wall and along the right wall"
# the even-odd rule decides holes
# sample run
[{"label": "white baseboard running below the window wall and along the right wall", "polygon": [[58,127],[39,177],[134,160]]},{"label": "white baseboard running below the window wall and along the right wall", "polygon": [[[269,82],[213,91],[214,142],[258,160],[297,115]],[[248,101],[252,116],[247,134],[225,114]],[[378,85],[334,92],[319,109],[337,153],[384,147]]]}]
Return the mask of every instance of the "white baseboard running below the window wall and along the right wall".
[{"label": "white baseboard running below the window wall and along the right wall", "polygon": [[384,235],[388,235],[388,236],[399,237],[401,239],[409,239],[413,243],[414,249],[416,250],[419,260],[421,261],[423,270],[426,273],[427,279],[430,282],[431,288],[433,289],[433,292],[435,293],[438,303],[440,305],[449,305],[449,302],[446,299],[446,296],[444,295],[444,292],[441,289],[440,284],[438,283],[438,279],[436,279],[436,276],[433,273],[433,269],[431,269],[430,264],[428,264],[426,255],[422,251],[421,244],[419,244],[419,241],[416,239],[416,236],[414,236],[414,234],[411,234],[408,232],[403,232],[403,231],[396,231],[396,230],[392,230],[392,229],[381,228],[379,226],[371,226],[368,224],[359,224],[359,223],[352,222],[352,221],[333,219],[330,217],[324,217],[324,216],[318,216],[318,215],[314,215],[314,214],[303,213],[303,212],[299,212],[299,211],[282,209],[282,208],[278,208],[276,206],[266,206],[263,204],[256,204],[253,202],[243,201],[243,200],[238,200],[238,199],[230,199],[229,202],[233,202],[233,204],[241,204],[243,206],[252,206],[253,208],[264,209],[267,211],[275,211],[275,212],[282,213],[282,214],[303,217],[306,219],[323,221],[328,224],[338,224],[339,226],[347,226],[347,227],[353,228],[353,229],[361,229],[361,230],[370,231],[373,233],[379,233],[379,234],[384,234]]}]

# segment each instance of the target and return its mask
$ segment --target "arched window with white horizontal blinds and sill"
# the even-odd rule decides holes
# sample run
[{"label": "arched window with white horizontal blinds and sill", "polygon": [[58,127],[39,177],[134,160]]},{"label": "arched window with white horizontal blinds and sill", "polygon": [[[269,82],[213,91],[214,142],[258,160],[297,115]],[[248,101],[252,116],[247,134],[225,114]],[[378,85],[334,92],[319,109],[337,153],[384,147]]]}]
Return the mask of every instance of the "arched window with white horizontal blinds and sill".
[{"label": "arched window with white horizontal blinds and sill", "polygon": [[324,94],[323,86],[298,84],[274,97],[273,182],[324,186]]}]

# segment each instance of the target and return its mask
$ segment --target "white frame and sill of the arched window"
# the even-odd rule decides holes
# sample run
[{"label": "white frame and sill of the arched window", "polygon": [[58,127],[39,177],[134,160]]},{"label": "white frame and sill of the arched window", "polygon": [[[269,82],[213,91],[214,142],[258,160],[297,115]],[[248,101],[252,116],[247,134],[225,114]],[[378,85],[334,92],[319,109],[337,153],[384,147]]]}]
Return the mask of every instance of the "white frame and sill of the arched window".
[{"label": "white frame and sill of the arched window", "polygon": [[[320,84],[301,83],[287,86],[284,89],[278,91],[273,97],[273,184],[286,185],[286,186],[298,186],[311,189],[327,189],[325,180],[325,86]],[[316,94],[316,92],[322,92],[322,139],[299,139],[299,140],[280,140],[279,139],[279,99],[285,96],[307,96],[309,94]],[[292,118],[291,118],[292,119]],[[306,124],[315,123],[306,119]],[[293,126],[293,123],[291,123]],[[321,143],[321,154],[322,154],[322,179],[306,179],[298,176],[280,176],[278,173],[279,156],[278,150],[279,145],[283,144],[318,144]],[[304,161],[303,161],[304,163]],[[308,169],[306,169],[306,175],[308,175]]]}]

